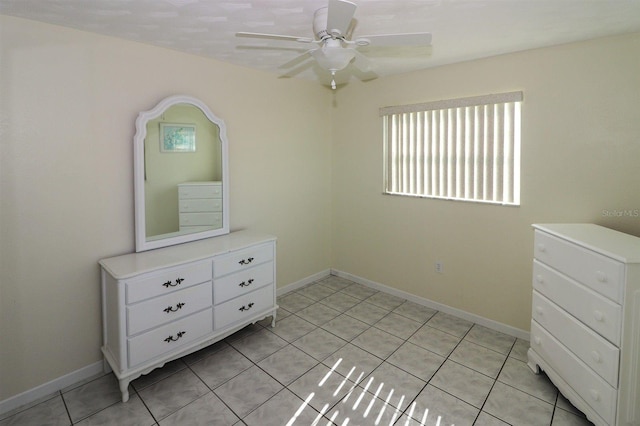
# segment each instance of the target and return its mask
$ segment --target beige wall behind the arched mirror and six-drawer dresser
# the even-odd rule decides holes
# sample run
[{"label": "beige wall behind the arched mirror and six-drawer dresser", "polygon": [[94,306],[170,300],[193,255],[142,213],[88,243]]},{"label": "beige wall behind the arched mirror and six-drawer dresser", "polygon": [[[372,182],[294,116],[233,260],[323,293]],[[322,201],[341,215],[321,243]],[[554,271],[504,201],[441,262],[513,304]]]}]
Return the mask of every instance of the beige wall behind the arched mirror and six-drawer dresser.
[{"label": "beige wall behind the arched mirror and six-drawer dresser", "polygon": [[330,267],[330,104],[317,84],[0,16],[0,401],[100,361],[100,258],[134,250],[139,111],[225,120],[231,228],[278,236],[278,282]]}]

